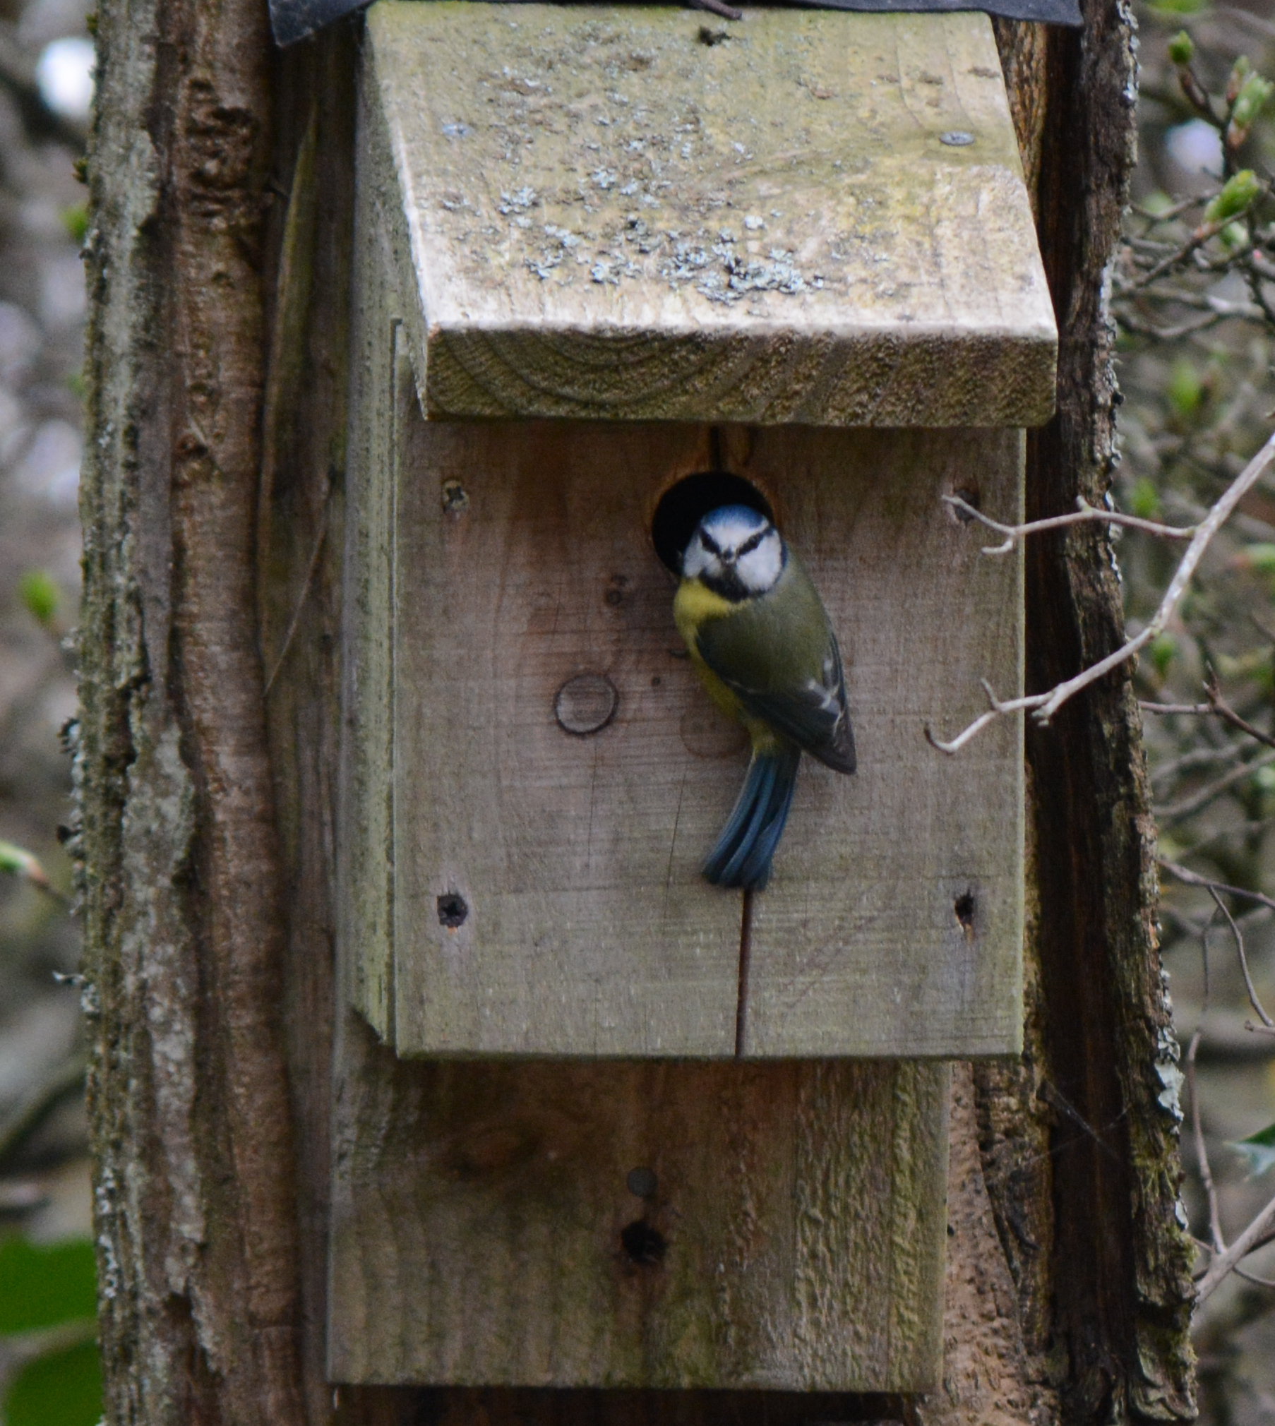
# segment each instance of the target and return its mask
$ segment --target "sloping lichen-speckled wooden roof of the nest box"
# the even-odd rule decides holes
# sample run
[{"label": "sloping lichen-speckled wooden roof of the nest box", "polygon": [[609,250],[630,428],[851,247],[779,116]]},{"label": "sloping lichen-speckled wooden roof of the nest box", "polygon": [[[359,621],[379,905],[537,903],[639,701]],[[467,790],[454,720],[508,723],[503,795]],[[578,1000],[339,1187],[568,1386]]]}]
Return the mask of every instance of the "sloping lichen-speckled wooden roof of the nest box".
[{"label": "sloping lichen-speckled wooden roof of the nest box", "polygon": [[[1057,334],[981,14],[369,14],[432,416],[1034,425]],[[946,144],[940,135],[967,134]]]}]

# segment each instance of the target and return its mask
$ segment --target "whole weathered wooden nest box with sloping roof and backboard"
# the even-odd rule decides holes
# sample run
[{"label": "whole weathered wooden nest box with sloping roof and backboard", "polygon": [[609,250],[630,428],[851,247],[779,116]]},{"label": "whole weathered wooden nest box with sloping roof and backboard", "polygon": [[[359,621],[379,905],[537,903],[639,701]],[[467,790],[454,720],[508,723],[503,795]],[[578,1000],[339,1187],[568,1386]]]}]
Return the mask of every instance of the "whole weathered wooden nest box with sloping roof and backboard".
[{"label": "whole weathered wooden nest box with sloping roof and backboard", "polygon": [[[1021,724],[924,739],[1021,558],[940,498],[1021,519],[1057,348],[991,26],[379,0],[357,211],[332,1378],[933,1386],[1023,1015]],[[859,744],[747,924],[666,568],[740,492]]]}]

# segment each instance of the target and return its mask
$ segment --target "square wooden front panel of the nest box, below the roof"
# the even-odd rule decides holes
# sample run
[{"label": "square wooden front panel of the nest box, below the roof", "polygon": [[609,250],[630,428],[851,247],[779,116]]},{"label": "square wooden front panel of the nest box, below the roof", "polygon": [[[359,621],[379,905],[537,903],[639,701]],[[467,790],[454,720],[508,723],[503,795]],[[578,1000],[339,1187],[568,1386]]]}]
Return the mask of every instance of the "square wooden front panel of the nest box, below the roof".
[{"label": "square wooden front panel of the nest box, below the roof", "polygon": [[947,759],[924,726],[1020,689],[1018,556],[940,495],[1014,518],[1021,435],[724,431],[823,593],[860,754],[804,760],[742,987],[742,897],[699,864],[747,752],[650,543],[709,429],[425,422],[406,382],[399,412],[399,1052],[732,1055],[742,992],[747,1055],[1015,1048],[1021,727]]}]

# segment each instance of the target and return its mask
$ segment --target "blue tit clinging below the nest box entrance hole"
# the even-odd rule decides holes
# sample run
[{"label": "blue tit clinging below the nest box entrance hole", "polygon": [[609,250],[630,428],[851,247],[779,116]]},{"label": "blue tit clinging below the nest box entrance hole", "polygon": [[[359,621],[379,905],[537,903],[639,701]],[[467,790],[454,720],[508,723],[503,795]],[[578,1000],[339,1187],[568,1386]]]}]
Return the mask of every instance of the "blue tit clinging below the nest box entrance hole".
[{"label": "blue tit clinging below the nest box entrance hole", "polygon": [[696,526],[673,617],[705,689],[753,740],[743,789],[703,873],[715,886],[760,890],[803,750],[854,771],[837,639],[797,556],[746,505],[723,505]]}]

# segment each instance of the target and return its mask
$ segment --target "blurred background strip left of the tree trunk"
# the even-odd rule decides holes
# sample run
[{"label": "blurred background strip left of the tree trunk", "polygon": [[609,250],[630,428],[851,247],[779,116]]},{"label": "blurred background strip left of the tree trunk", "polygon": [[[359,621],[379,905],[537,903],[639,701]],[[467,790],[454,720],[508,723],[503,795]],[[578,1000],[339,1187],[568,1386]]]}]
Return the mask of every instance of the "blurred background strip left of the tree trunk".
[{"label": "blurred background strip left of the tree trunk", "polygon": [[[94,1426],[70,864],[87,0],[0,0],[0,1422]],[[63,833],[64,836],[64,833]]]}]

